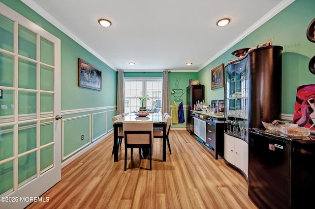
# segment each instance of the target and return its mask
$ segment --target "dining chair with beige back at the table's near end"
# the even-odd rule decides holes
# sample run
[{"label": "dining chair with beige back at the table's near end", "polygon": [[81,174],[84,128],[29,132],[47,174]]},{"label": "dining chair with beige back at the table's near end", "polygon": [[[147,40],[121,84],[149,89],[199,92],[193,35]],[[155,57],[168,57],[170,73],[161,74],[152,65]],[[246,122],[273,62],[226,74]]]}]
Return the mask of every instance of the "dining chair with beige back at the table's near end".
[{"label": "dining chair with beige back at the table's near end", "polygon": [[[131,160],[133,148],[149,149],[150,170],[152,170],[153,148],[153,122],[152,121],[125,121],[123,123],[125,138],[125,171],[127,169],[127,149],[131,148]],[[141,159],[141,153],[140,159]]]}]

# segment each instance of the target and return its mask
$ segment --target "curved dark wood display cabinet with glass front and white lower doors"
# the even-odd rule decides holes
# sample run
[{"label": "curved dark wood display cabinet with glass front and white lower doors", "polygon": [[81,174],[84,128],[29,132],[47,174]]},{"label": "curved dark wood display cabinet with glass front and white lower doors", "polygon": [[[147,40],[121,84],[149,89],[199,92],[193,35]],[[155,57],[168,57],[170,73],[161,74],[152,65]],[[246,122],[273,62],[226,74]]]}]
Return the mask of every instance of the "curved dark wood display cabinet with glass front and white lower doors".
[{"label": "curved dark wood display cabinet with glass front and white lower doors", "polygon": [[225,66],[224,159],[246,177],[249,128],[280,118],[282,50],[253,49]]}]

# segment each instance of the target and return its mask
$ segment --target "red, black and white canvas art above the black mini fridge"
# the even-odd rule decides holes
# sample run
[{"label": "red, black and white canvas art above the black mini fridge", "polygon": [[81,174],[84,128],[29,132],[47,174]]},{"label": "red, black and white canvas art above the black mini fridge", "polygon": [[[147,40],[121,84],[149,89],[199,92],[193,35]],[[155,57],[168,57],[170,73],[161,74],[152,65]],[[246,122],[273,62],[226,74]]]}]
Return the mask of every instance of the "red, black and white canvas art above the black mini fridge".
[{"label": "red, black and white canvas art above the black mini fridge", "polygon": [[293,123],[315,132],[315,84],[297,87]]}]

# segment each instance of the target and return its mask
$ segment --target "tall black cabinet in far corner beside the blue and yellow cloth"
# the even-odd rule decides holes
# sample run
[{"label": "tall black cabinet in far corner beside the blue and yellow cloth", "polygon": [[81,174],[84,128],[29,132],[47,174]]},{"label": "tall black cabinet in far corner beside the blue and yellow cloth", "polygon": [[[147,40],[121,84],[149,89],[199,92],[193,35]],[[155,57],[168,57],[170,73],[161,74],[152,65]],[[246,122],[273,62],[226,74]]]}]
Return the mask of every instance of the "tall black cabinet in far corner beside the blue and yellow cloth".
[{"label": "tall black cabinet in far corner beside the blue and yellow cloth", "polygon": [[205,99],[205,86],[204,85],[190,85],[186,89],[186,102],[187,102],[187,131],[193,133],[193,118],[190,117],[190,110],[193,110],[193,104]]}]

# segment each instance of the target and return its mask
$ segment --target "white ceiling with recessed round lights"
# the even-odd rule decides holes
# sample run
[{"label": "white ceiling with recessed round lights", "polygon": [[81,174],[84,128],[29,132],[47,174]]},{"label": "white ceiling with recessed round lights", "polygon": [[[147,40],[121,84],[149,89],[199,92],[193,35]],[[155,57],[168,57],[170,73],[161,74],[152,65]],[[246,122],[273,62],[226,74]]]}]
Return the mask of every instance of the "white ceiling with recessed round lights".
[{"label": "white ceiling with recessed round lights", "polygon": [[197,72],[294,0],[22,1],[114,70]]}]

